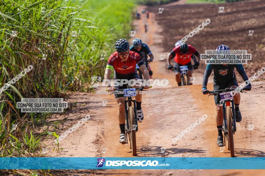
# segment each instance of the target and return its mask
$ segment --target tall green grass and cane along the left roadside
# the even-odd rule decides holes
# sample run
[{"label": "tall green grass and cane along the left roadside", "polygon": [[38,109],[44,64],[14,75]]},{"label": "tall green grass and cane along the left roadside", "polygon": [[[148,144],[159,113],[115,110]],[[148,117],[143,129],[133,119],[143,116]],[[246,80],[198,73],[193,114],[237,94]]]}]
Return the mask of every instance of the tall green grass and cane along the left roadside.
[{"label": "tall green grass and cane along the left roadside", "polygon": [[[133,0],[0,0],[0,157],[32,156],[56,134],[36,133],[49,113],[21,113],[16,103],[88,90],[91,76],[103,76],[115,41],[128,37],[134,6]],[[58,122],[50,125],[58,130]]]}]

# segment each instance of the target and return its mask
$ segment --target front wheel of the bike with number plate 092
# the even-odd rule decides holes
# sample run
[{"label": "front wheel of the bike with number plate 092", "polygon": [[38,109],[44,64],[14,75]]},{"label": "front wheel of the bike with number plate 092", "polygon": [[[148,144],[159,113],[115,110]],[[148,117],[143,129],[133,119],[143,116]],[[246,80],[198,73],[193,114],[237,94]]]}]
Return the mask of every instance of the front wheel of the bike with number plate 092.
[{"label": "front wheel of the bike with number plate 092", "polygon": [[234,133],[232,130],[232,113],[230,105],[226,106],[226,121],[227,121],[227,130],[228,130],[228,146],[230,149],[230,156],[235,157],[235,149],[234,149]]}]

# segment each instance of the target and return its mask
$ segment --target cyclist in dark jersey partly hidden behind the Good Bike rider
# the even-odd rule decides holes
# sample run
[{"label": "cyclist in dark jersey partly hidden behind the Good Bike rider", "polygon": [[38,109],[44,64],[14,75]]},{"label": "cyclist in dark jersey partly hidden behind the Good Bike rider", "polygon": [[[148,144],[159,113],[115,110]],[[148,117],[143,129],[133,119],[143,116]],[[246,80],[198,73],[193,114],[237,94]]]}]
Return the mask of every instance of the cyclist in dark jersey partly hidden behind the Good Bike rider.
[{"label": "cyclist in dark jersey partly hidden behind the Good Bike rider", "polygon": [[[135,38],[133,39],[133,45],[130,47],[130,51],[137,52],[141,56],[143,62],[145,62],[145,66],[148,68],[149,76],[152,78],[153,72],[148,62],[152,62],[154,60],[154,55],[147,44],[142,43],[141,39]],[[150,59],[147,60],[148,55]]]}]

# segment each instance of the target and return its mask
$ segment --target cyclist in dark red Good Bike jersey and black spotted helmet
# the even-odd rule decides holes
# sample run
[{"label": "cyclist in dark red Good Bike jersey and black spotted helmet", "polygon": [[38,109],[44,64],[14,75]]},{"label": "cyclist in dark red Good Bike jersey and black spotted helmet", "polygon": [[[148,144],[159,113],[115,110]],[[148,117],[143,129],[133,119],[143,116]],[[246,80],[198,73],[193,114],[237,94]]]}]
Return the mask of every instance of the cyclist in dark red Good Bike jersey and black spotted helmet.
[{"label": "cyclist in dark red Good Bike jersey and black spotted helmet", "polygon": [[[138,80],[139,75],[136,73],[135,67],[136,64],[139,65],[144,78],[149,80],[148,70],[145,67],[145,64],[142,61],[142,58],[139,54],[133,51],[129,51],[129,43],[126,39],[120,39],[116,41],[115,49],[117,52],[113,53],[108,60],[108,64],[105,70],[104,79],[110,80],[111,72],[114,70],[114,77],[117,82],[117,79],[135,79]],[[121,81],[120,81],[121,82]],[[137,87],[137,86],[134,86]],[[114,91],[115,89],[124,89],[127,88],[126,85],[119,85],[115,87],[108,86],[108,91]],[[144,86],[144,89],[148,89],[148,86]],[[137,118],[138,122],[142,122],[144,119],[141,103],[142,103],[142,94],[137,94],[136,99],[136,109],[137,109]],[[115,100],[118,103],[118,118],[120,125],[120,143],[125,143],[125,108],[124,108],[124,97],[123,94],[115,94]]]}]

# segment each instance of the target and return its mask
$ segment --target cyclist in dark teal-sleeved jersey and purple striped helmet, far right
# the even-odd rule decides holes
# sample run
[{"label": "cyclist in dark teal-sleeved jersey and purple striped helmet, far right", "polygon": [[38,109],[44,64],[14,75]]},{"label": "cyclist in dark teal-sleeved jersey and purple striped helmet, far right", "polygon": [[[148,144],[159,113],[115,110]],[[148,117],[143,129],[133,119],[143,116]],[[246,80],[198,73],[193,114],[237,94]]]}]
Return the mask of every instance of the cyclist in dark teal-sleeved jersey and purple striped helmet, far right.
[{"label": "cyclist in dark teal-sleeved jersey and purple striped helmet, far right", "polygon": [[[216,50],[230,50],[226,45],[220,45],[217,47]],[[248,80],[248,76],[242,66],[242,64],[207,64],[204,75],[203,75],[203,82],[202,82],[202,93],[209,94],[207,90],[207,82],[212,70],[214,70],[214,90],[220,90],[225,88],[237,88],[238,83],[235,78],[235,69],[238,73],[242,76],[243,80]],[[246,91],[251,90],[251,84],[247,85],[244,88]],[[239,110],[239,103],[240,103],[240,94],[237,94],[234,98],[235,104],[235,121],[241,122],[242,115]],[[217,145],[219,147],[223,147],[223,133],[222,133],[222,126],[223,126],[223,106],[219,106],[220,104],[220,95],[214,95],[214,101],[216,105],[216,124],[218,130],[218,138],[217,138]]]}]

